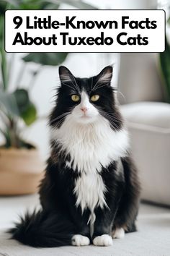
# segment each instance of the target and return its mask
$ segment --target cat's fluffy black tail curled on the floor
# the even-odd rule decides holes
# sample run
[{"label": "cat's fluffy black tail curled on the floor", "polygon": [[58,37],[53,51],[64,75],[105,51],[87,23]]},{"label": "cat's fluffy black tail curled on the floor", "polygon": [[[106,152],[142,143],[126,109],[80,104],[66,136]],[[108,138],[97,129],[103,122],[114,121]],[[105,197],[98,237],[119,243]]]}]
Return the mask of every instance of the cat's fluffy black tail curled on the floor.
[{"label": "cat's fluffy black tail curled on the floor", "polygon": [[9,233],[12,239],[32,247],[59,247],[71,245],[74,228],[63,216],[40,210],[31,215],[26,213]]}]

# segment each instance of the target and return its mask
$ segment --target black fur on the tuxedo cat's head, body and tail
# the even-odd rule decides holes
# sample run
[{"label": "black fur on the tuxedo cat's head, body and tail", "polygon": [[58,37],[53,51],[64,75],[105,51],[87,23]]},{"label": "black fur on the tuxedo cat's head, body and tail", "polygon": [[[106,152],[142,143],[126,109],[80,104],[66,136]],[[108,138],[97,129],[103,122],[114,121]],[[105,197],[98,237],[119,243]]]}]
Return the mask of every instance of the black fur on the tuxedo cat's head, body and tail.
[{"label": "black fur on the tuxedo cat's head, body and tail", "polygon": [[[106,67],[98,76],[89,79],[73,77],[65,67],[60,67],[59,72],[61,88],[58,90],[58,99],[50,115],[51,127],[61,127],[64,121],[61,115],[79,103],[71,101],[71,93],[75,90],[76,93],[80,93],[84,89],[90,96],[101,95],[94,105],[109,120],[112,129],[122,128],[122,118],[115,106],[110,82],[103,82],[103,86],[95,92],[91,90],[104,72],[109,72],[111,80],[112,67]],[[62,75],[70,77],[72,82],[63,80]],[[72,85],[75,82],[78,85],[76,89]],[[105,114],[108,114],[107,117]],[[92,242],[95,236],[110,235],[116,228],[122,227],[126,232],[136,231],[135,219],[138,214],[140,185],[137,170],[130,155],[120,158],[119,161],[112,161],[107,168],[102,167],[99,173],[107,188],[105,200],[108,208],[95,208],[96,221],[92,237],[87,224],[89,208],[86,208],[82,214],[81,207],[75,206],[76,195],[73,193],[73,188],[81,173],[65,166],[69,158],[70,155],[61,150],[61,145],[51,140],[51,155],[48,159],[45,178],[40,184],[42,210],[32,215],[26,214],[20,223],[10,230],[12,238],[33,247],[58,247],[71,244],[73,234],[88,236]]]}]

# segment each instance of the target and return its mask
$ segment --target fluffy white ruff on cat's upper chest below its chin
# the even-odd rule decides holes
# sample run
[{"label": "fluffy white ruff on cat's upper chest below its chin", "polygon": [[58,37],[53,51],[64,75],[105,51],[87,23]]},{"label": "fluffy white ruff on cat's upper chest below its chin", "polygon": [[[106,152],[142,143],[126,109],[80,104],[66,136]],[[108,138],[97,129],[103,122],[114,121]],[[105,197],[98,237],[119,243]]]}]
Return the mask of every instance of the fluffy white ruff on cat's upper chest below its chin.
[{"label": "fluffy white ruff on cat's upper chest below its chin", "polygon": [[128,134],[125,129],[114,132],[102,116],[92,124],[77,124],[68,116],[60,129],[52,133],[63,150],[71,156],[68,166],[86,173],[101,171],[111,161],[126,154]]}]

